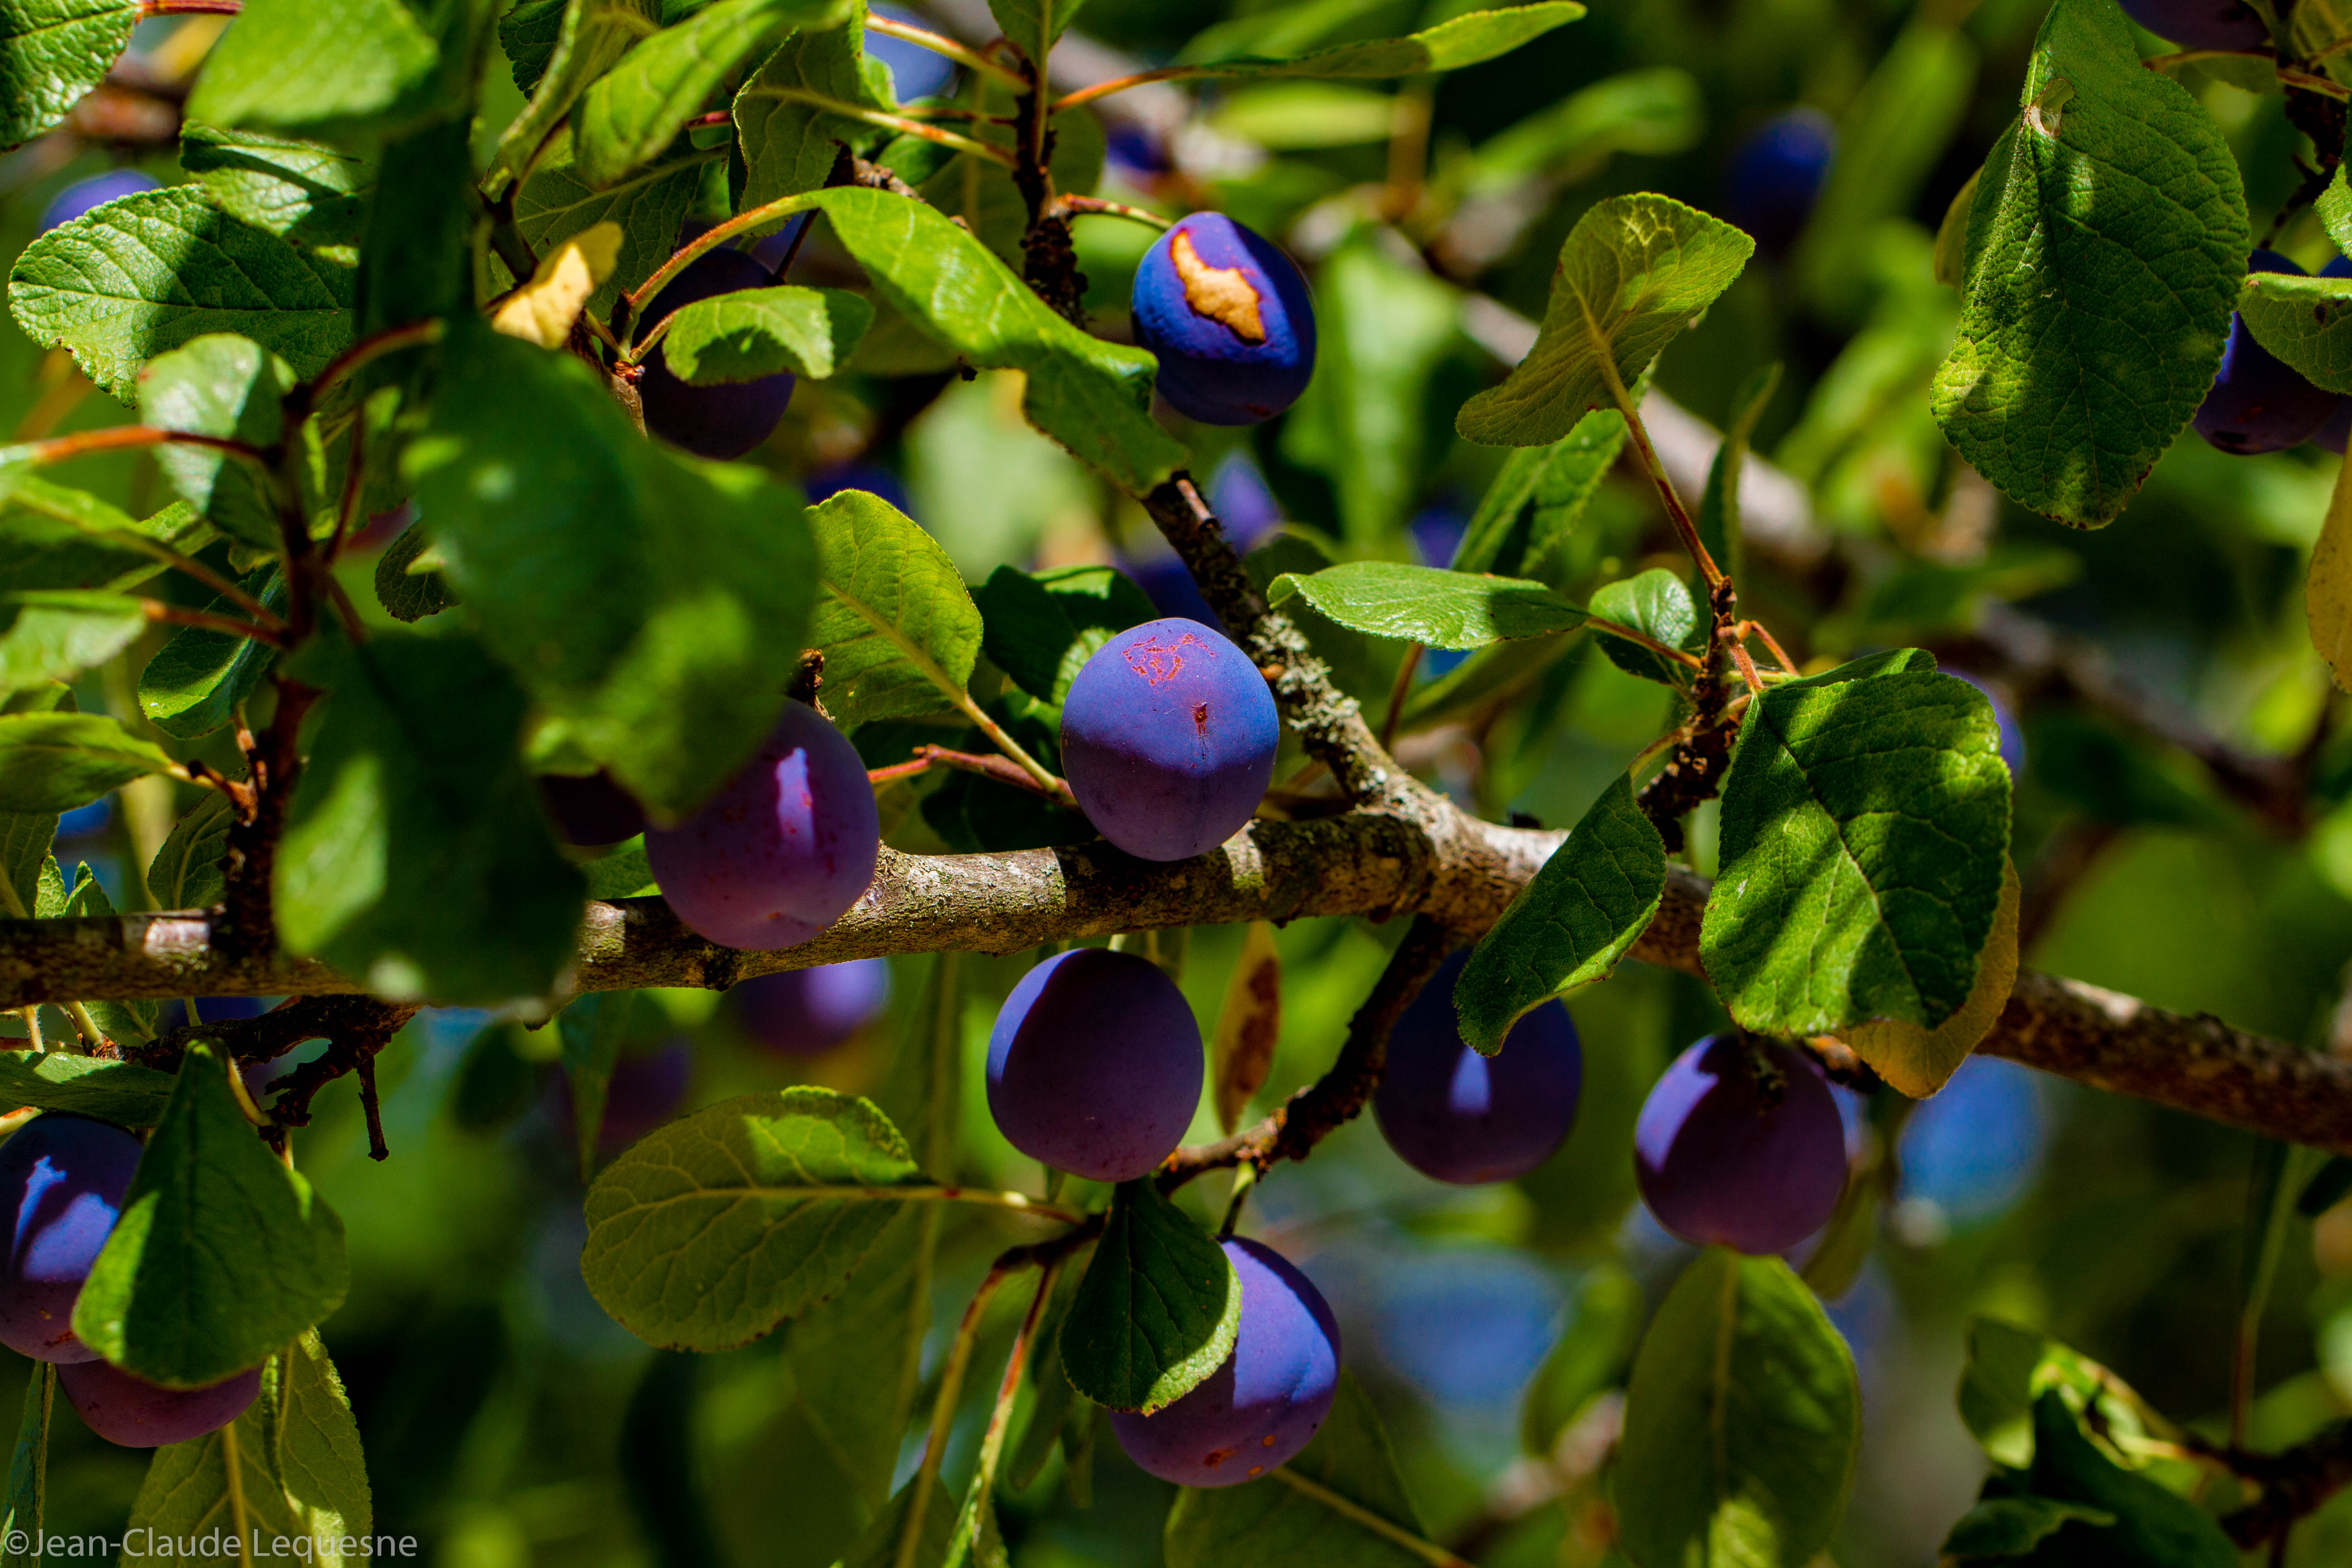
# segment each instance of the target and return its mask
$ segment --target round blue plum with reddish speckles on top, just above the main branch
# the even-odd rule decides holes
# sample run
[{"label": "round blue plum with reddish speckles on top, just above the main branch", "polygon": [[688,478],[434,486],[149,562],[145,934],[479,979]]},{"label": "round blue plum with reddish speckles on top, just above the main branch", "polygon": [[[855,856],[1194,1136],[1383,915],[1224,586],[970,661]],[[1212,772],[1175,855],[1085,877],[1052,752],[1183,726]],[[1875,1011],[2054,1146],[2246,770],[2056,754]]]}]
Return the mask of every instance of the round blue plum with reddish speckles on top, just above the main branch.
[{"label": "round blue plum with reddish speckles on top, just above the main branch", "polygon": [[1185,860],[1251,818],[1282,722],[1223,632],[1169,616],[1096,649],[1061,710],[1061,766],[1094,830],[1141,860]]}]

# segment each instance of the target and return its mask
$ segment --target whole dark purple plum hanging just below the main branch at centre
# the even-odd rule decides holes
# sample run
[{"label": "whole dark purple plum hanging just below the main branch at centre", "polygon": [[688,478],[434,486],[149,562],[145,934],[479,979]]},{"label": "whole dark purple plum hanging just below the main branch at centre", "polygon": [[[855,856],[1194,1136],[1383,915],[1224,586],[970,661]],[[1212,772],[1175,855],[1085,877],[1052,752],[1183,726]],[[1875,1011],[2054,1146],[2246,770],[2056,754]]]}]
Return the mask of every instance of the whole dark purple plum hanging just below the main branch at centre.
[{"label": "whole dark purple plum hanging just below the main branch at centre", "polygon": [[1098,1182],[1157,1168],[1192,1124],[1200,1081],[1192,1004],[1131,952],[1054,954],[988,1034],[988,1112],[1007,1143]]}]

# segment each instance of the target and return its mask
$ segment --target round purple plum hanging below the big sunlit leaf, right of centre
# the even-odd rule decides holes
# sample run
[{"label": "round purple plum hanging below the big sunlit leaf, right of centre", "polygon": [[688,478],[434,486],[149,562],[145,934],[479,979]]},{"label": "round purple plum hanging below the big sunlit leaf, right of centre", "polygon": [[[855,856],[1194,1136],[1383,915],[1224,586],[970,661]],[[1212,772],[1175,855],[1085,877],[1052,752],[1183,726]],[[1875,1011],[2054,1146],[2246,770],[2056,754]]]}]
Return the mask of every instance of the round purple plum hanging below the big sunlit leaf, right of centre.
[{"label": "round purple plum hanging below the big sunlit leaf, right of centre", "polygon": [[1846,1128],[1809,1056],[1710,1034],[1642,1103],[1632,1171],[1642,1201],[1693,1246],[1785,1253],[1828,1225],[1846,1185]]}]

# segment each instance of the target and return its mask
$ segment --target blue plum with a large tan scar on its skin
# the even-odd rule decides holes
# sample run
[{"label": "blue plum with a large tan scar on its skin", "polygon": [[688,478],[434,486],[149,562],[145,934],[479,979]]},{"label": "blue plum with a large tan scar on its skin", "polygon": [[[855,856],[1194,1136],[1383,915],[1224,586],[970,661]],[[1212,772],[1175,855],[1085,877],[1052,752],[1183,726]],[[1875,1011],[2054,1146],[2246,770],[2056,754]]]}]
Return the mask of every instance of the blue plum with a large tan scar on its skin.
[{"label": "blue plum with a large tan scar on its skin", "polygon": [[1195,212],[1143,254],[1134,324],[1160,360],[1160,395],[1204,425],[1272,418],[1315,376],[1308,280],[1221,212]]}]

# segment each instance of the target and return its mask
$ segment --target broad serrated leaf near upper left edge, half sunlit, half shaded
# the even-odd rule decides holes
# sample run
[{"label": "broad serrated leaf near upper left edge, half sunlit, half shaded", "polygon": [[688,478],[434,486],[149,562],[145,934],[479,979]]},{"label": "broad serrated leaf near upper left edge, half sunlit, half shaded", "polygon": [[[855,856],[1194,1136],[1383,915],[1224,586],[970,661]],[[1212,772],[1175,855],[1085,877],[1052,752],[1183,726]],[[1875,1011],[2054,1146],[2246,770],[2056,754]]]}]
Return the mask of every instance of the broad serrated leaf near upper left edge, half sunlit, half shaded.
[{"label": "broad serrated leaf near upper left edge, half sunlit, half shaded", "polygon": [[9,273],[9,310],[33,341],[73,350],[85,376],[132,402],[146,360],[207,331],[249,336],[315,376],[350,348],[353,277],[346,254],[230,216],[202,186],[172,186],[33,240]]}]

